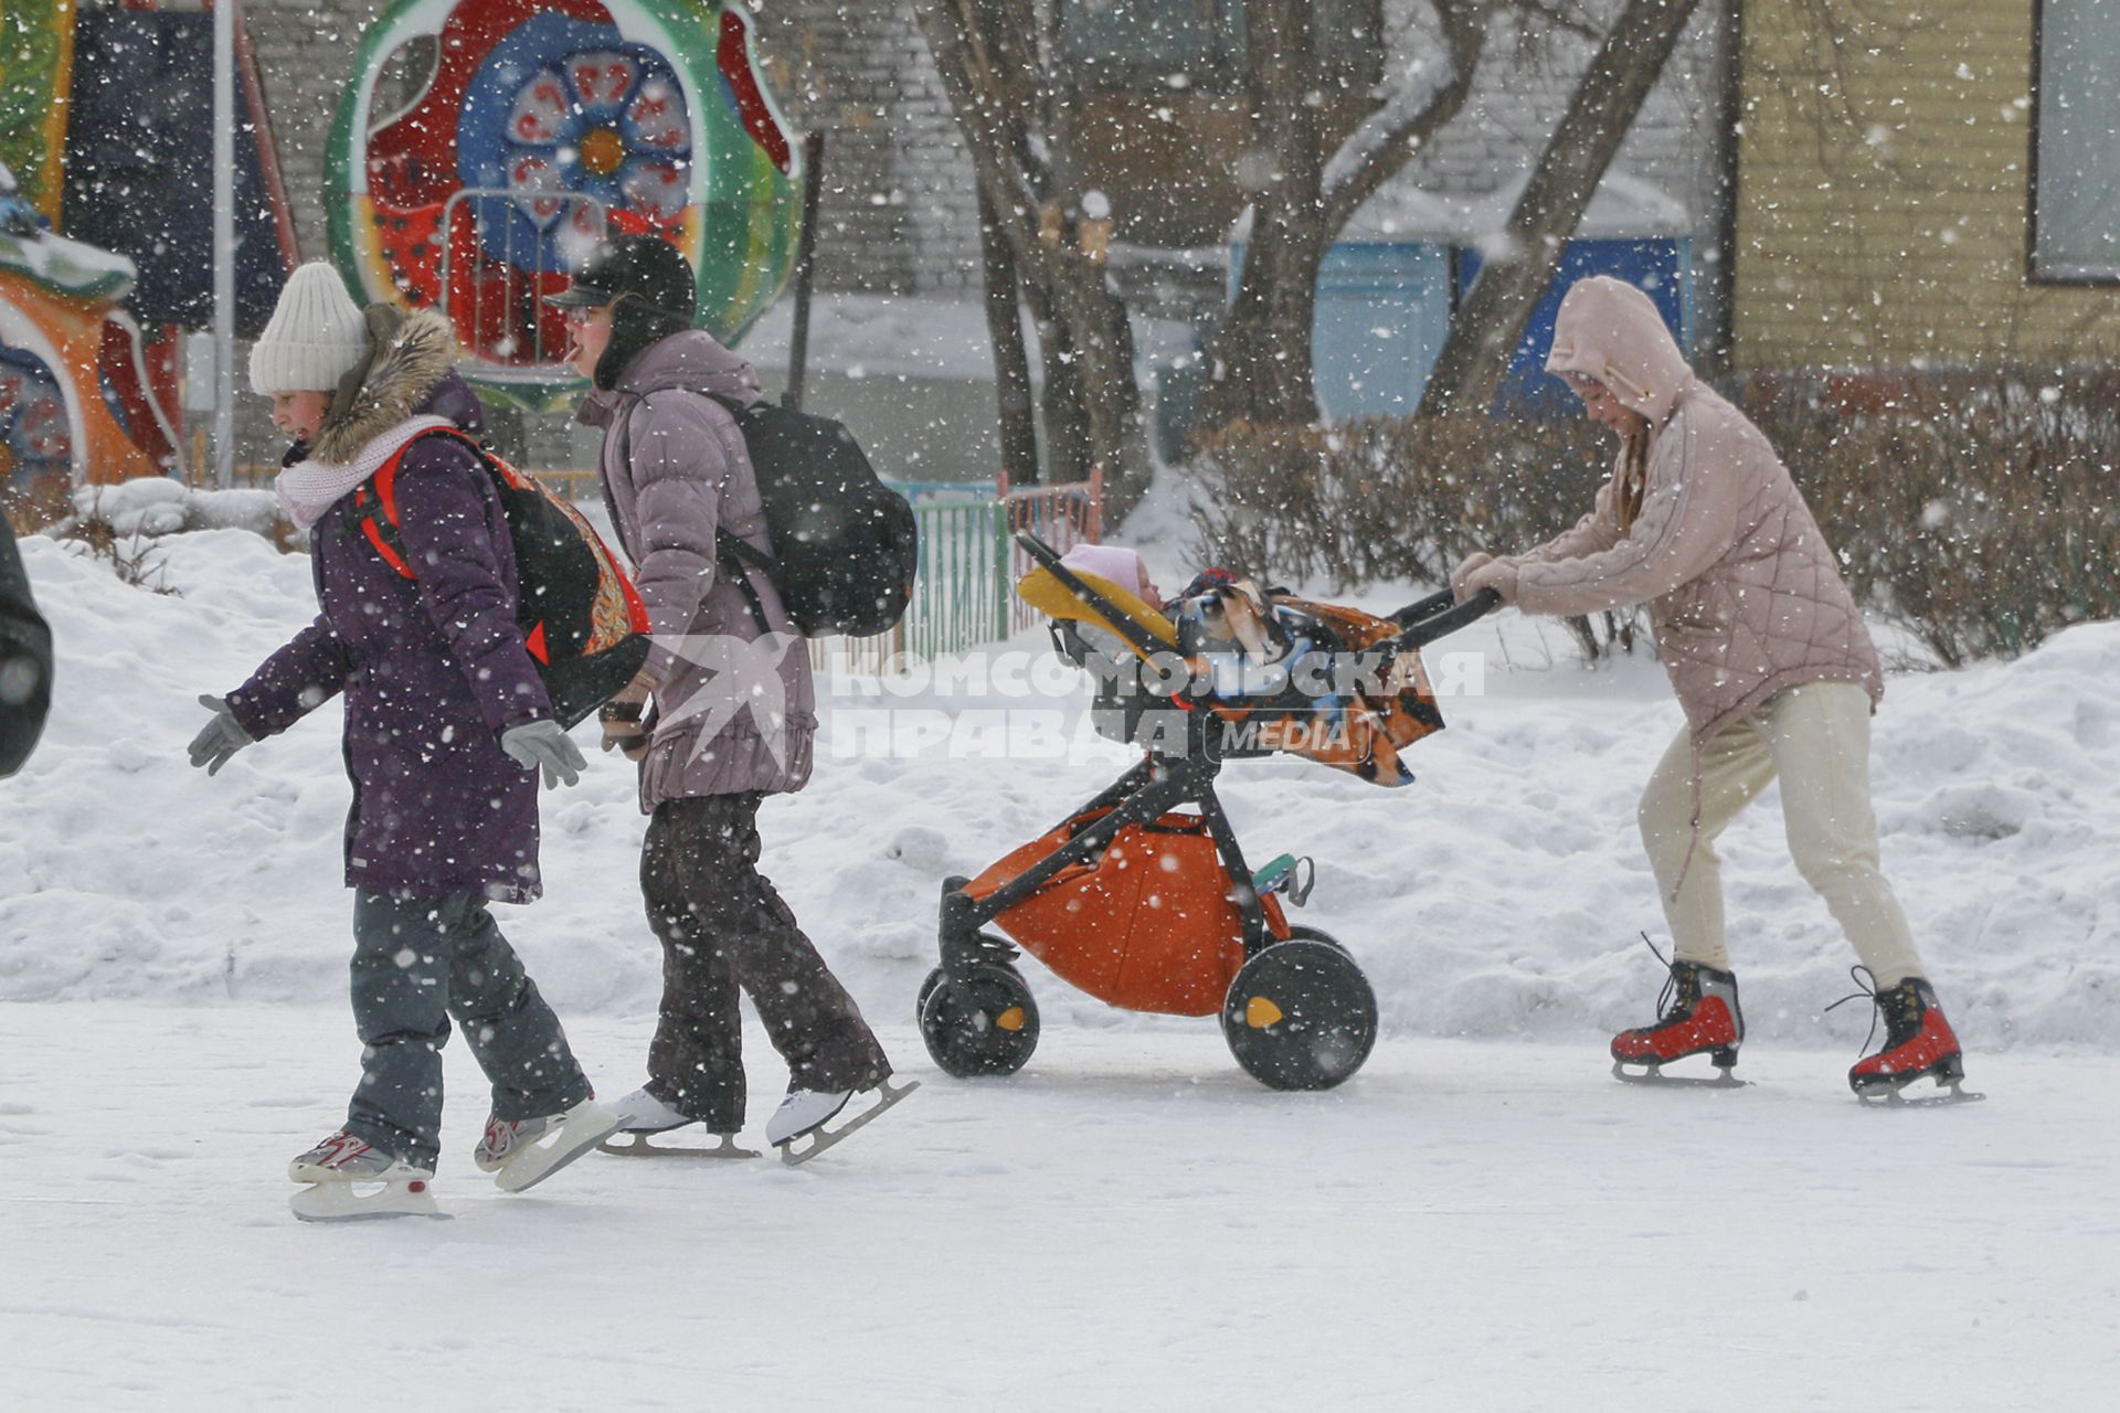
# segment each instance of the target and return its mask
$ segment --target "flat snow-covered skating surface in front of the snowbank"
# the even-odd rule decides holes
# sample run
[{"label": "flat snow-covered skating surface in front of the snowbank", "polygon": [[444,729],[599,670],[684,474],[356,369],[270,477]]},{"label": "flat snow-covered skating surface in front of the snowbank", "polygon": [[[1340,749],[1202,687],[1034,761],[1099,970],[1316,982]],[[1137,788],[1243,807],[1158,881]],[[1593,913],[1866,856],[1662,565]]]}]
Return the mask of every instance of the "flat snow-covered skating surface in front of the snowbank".
[{"label": "flat snow-covered skating surface in front of the snowbank", "polygon": [[[1649,1093],[1406,1040],[1272,1095],[1211,1023],[1049,1034],[803,1169],[589,1157],[449,1222],[286,1218],[339,1008],[4,1006],[17,1409],[2090,1409],[2120,1379],[2120,1061],[1863,1112],[1844,1055]],[[577,1019],[625,1072],[647,1017]],[[757,1042],[759,1038],[753,1036]],[[763,1119],[772,1095],[755,1102]],[[507,1390],[498,1396],[496,1390]]]}]

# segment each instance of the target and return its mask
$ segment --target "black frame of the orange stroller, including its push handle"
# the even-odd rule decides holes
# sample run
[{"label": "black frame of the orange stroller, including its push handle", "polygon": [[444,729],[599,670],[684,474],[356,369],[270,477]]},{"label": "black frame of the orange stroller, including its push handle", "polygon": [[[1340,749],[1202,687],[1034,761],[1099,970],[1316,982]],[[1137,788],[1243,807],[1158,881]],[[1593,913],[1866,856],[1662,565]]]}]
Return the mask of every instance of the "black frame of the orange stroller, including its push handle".
[{"label": "black frame of the orange stroller, including its push handle", "polygon": [[[1030,532],[1018,532],[1015,542],[1030,555],[1041,568],[1049,570],[1071,593],[1075,593],[1083,604],[1098,610],[1105,623],[1115,629],[1128,644],[1141,652],[1164,650],[1166,644],[1158,644],[1138,623],[1128,619],[1128,614],[1098,593],[1094,587],[1083,583],[1073,570],[1060,564],[1060,555],[1045,544],[1039,536]],[[1454,595],[1444,589],[1431,593],[1414,604],[1391,614],[1391,621],[1401,627],[1399,633],[1374,644],[1372,652],[1406,652],[1418,650],[1446,633],[1473,623],[1476,619],[1492,612],[1499,606],[1499,595],[1492,591],[1480,593],[1478,597],[1459,604]],[[1149,750],[1149,754],[1132,765],[1124,775],[1119,775],[1111,786],[1100,790],[1085,805],[1068,813],[1068,820],[1081,818],[1085,813],[1105,809],[1100,818],[1092,820],[1079,828],[1066,843],[1056,847],[1052,854],[1041,858],[1037,864],[1015,875],[994,892],[984,898],[973,898],[965,892],[969,877],[954,875],[943,879],[941,886],[941,909],[939,909],[939,962],[941,966],[929,977],[926,985],[920,989],[920,1019],[922,1038],[929,1040],[931,1053],[943,1063],[952,1074],[1009,1074],[1028,1059],[1030,1047],[1037,1042],[1037,1021],[1035,1004],[1030,1002],[1028,987],[1015,974],[1011,966],[1018,958],[1018,947],[988,928],[996,917],[1013,909],[1015,905],[1032,898],[1039,890],[1052,883],[1058,875],[1066,873],[1085,862],[1098,860],[1111,841],[1130,826],[1153,826],[1164,813],[1177,805],[1191,805],[1198,809],[1208,837],[1215,843],[1227,875],[1232,879],[1230,900],[1236,905],[1242,917],[1242,951],[1247,966],[1264,955],[1270,947],[1287,947],[1291,941],[1308,941],[1317,945],[1331,947],[1344,958],[1344,949],[1327,938],[1314,928],[1291,928],[1291,938],[1274,938],[1268,928],[1266,907],[1259,900],[1259,892],[1253,888],[1253,873],[1244,862],[1244,849],[1236,841],[1236,828],[1230,824],[1230,816],[1223,811],[1221,799],[1215,794],[1215,777],[1221,773],[1223,758],[1244,758],[1244,756],[1270,756],[1276,754],[1270,748],[1244,748],[1244,750],[1223,750],[1215,739],[1215,725],[1223,718],[1211,710],[1191,708],[1183,712],[1185,718],[1185,750],[1183,754],[1170,754],[1162,750]],[[1353,968],[1353,962],[1346,962]],[[937,1042],[929,1034],[931,1030],[931,1000],[941,996],[943,1008],[962,1010],[967,1017],[973,1013],[992,1010],[992,1004],[977,1008],[971,1006],[971,998],[986,987],[992,991],[996,983],[996,972],[1005,972],[1013,979],[1013,987],[1007,987],[1009,996],[1018,1006],[1024,1006],[1030,1015],[1028,1036],[1015,1032],[1013,1036],[990,1036],[996,1040],[994,1047],[982,1049],[977,1055],[958,1055],[967,1061],[962,1068],[952,1066],[941,1053],[937,1053]],[[1355,972],[1359,981],[1359,970]],[[1361,981],[1363,991],[1367,983]],[[994,998],[990,998],[994,1000]],[[956,1002],[952,1006],[952,1002]],[[1374,1008],[1374,998],[1372,998]],[[1372,1021],[1374,1025],[1374,1021]],[[1227,1025],[1225,1025],[1227,1030]],[[1001,1044],[1003,1040],[1013,1040],[1013,1044]],[[1236,1038],[1232,1036],[1232,1049],[1236,1049]],[[1020,1057],[1018,1057],[1020,1051]],[[1367,1047],[1363,1047],[1363,1057]],[[984,1063],[982,1063],[984,1059]],[[1013,1063],[1011,1063],[1013,1061]],[[1261,1074],[1253,1068],[1244,1053],[1238,1051],[1238,1061],[1247,1063],[1261,1080],[1274,1087],[1289,1089],[1314,1089],[1325,1087],[1323,1083],[1278,1083],[1272,1074]],[[1355,1061],[1359,1066],[1359,1059]],[[1353,1070],[1348,1070],[1353,1072]],[[1344,1078],[1338,1076],[1338,1078]],[[1325,1083],[1338,1083],[1338,1078]]]}]

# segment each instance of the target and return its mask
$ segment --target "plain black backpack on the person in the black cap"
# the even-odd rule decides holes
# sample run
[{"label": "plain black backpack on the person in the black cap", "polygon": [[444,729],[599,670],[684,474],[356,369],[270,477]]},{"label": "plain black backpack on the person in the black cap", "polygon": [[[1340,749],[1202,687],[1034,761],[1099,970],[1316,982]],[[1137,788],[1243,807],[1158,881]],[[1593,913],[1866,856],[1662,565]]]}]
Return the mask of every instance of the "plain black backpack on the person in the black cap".
[{"label": "plain black backpack on the person in the black cap", "polygon": [[776,403],[706,396],[727,407],[744,434],[774,542],[763,555],[719,530],[723,570],[738,580],[746,564],[761,570],[803,638],[869,638],[897,627],[920,568],[920,530],[854,434]]}]

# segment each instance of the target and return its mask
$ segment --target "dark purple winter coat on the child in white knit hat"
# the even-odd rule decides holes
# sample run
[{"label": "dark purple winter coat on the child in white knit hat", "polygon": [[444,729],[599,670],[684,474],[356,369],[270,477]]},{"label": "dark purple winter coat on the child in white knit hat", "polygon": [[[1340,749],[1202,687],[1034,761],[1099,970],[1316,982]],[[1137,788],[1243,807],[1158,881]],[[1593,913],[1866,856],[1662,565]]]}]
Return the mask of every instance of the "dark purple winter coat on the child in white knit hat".
[{"label": "dark purple winter coat on the child in white knit hat", "polygon": [[[399,392],[394,411],[466,432],[483,422],[445,362],[439,379],[422,388],[416,373]],[[326,426],[318,447],[329,436]],[[367,439],[341,432],[348,441]],[[348,888],[530,902],[543,892],[538,777],[500,750],[500,733],[551,716],[551,701],[515,625],[507,519],[492,475],[439,436],[405,451],[396,498],[418,580],[384,564],[360,534],[365,513],[341,498],[310,532],[322,612],[229,693],[229,710],[263,739],[346,693]]]}]

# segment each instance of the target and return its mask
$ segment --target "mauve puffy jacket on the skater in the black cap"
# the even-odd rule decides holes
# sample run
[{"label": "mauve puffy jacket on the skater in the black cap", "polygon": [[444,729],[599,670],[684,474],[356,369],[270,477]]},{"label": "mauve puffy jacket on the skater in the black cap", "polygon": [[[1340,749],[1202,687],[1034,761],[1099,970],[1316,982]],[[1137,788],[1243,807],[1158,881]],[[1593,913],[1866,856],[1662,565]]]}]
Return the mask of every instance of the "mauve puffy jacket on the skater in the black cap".
[{"label": "mauve puffy jacket on the skater in the black cap", "polygon": [[[714,564],[714,527],[772,553],[744,434],[712,392],[759,400],[759,377],[712,335],[687,330],[642,350],[577,417],[604,428],[598,470],[611,523],[634,561],[655,629],[655,737],[640,761],[640,809],[670,799],[801,790],[816,735],[808,642],[780,591]],[[772,638],[767,638],[767,629]],[[761,642],[763,640],[763,642]],[[683,648],[683,650],[678,650]]]}]

